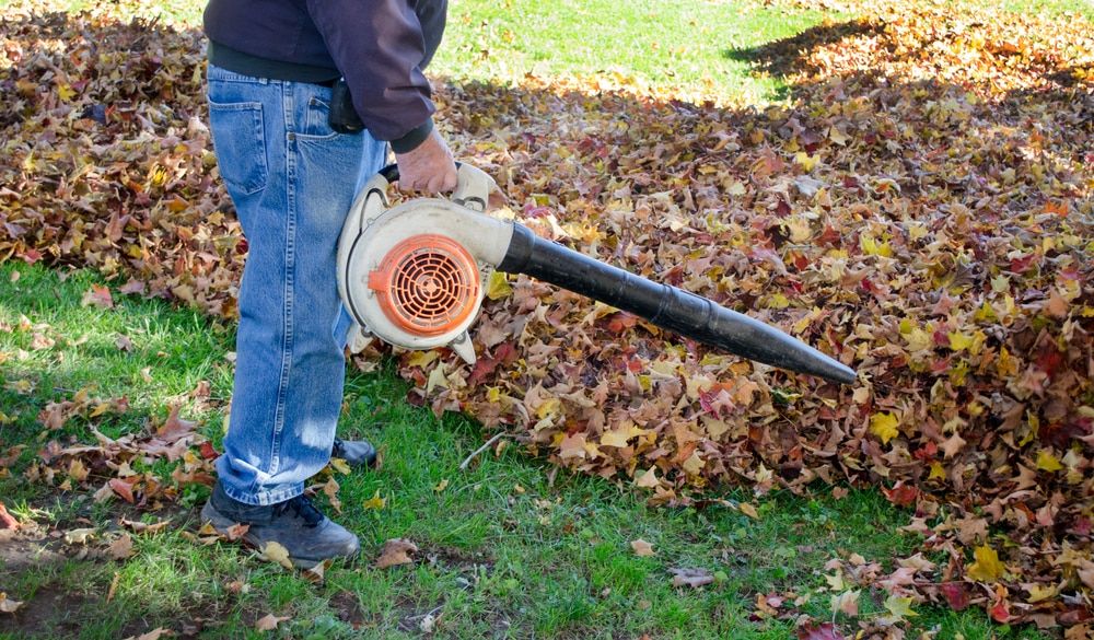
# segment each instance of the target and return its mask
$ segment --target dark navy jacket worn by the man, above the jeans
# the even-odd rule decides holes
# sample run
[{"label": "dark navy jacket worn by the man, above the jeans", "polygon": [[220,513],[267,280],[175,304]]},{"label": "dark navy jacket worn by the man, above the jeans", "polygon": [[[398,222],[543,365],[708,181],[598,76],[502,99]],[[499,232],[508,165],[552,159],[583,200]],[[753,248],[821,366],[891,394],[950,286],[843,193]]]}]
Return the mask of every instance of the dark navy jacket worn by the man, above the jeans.
[{"label": "dark navy jacket worn by the man, above the jeans", "polygon": [[210,0],[205,31],[234,54],[224,59],[286,63],[274,66],[290,75],[280,80],[345,75],[370,133],[398,141],[432,127],[422,69],[441,43],[446,10],[446,0]]}]

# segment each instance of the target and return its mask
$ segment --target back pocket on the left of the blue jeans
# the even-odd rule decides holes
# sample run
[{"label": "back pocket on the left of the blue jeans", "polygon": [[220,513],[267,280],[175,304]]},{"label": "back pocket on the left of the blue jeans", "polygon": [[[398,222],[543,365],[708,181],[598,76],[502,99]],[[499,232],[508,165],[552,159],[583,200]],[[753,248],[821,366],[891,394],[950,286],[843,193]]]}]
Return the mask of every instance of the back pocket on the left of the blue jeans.
[{"label": "back pocket on the left of the blue jeans", "polygon": [[210,100],[209,124],[220,176],[229,193],[249,196],[266,188],[269,170],[266,165],[263,104],[221,104]]}]

